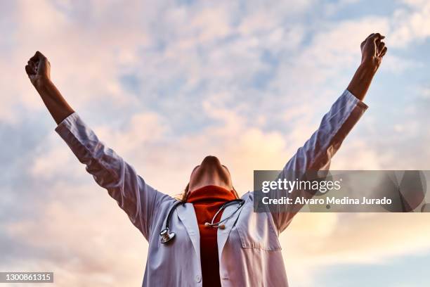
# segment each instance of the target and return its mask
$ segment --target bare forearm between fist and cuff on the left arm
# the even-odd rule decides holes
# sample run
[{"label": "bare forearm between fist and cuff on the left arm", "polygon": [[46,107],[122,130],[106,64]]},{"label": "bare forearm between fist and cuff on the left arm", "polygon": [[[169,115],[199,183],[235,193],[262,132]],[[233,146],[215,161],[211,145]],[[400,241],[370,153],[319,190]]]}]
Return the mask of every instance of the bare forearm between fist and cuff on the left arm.
[{"label": "bare forearm between fist and cuff on the left arm", "polygon": [[36,89],[57,125],[74,113],[74,110],[70,107],[65,98],[63,98],[60,91],[58,91],[51,80],[38,84]]}]

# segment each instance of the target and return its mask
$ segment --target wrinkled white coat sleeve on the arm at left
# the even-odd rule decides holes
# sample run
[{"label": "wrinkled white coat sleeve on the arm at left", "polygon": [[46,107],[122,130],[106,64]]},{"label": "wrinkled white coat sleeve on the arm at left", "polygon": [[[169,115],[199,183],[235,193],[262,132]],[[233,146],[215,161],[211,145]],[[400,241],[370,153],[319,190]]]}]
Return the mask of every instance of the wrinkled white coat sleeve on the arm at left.
[{"label": "wrinkled white coat sleeve on the arm at left", "polygon": [[148,239],[154,210],[168,196],[146,184],[131,165],[98,139],[77,113],[60,122],[56,132]]}]

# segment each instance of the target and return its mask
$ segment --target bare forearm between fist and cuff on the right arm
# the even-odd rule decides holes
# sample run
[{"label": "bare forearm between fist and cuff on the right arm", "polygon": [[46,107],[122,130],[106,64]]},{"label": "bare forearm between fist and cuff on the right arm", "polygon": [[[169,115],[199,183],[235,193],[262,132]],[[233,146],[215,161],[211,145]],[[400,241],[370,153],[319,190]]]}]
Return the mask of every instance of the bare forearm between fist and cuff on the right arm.
[{"label": "bare forearm between fist and cuff on the right arm", "polygon": [[348,91],[360,101],[363,101],[377,69],[378,65],[374,63],[361,63],[348,85]]}]

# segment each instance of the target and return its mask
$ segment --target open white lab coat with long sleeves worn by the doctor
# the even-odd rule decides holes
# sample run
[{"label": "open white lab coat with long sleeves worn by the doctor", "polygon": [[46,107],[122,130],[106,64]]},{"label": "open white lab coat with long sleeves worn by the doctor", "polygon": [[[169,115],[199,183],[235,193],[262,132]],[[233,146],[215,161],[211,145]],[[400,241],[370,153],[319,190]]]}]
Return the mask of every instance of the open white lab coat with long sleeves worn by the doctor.
[{"label": "open white lab coat with long sleeves worn by the doctor", "polygon": [[[330,159],[366,108],[353,94],[344,91],[311,139],[287,162],[280,177],[286,177],[286,171],[295,178],[292,171],[303,174],[306,170],[327,169]],[[149,241],[143,286],[202,286],[200,235],[193,205],[178,206],[170,225],[176,238],[171,244],[160,243],[159,231],[164,229],[167,214],[177,200],[146,184],[131,165],[97,138],[77,113],[63,120],[56,132]],[[218,229],[221,284],[287,286],[278,235],[285,230],[293,213],[256,213],[253,195],[253,192],[245,193],[242,210],[228,219],[226,229]],[[226,208],[222,218],[235,208],[236,205]]]}]

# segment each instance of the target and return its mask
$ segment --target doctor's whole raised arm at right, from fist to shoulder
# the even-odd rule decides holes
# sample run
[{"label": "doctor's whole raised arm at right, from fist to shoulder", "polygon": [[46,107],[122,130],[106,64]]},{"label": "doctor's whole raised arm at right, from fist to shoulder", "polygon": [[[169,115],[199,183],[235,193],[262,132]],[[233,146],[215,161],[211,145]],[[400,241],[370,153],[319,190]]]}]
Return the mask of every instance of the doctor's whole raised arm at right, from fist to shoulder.
[{"label": "doctor's whole raised arm at right, from fist to shoulder", "polygon": [[[384,39],[384,36],[376,33],[370,34],[363,41],[361,44],[361,63],[348,88],[333,103],[329,112],[325,114],[317,131],[287,162],[278,178],[289,180],[304,179],[306,172],[329,169],[331,158],[339,150],[346,135],[367,109],[362,100],[386,53],[386,46],[382,39]],[[294,202],[294,198],[297,196],[311,197],[312,194],[304,193],[304,191],[296,191],[290,194],[285,193],[285,191],[275,191],[272,196],[276,198],[289,196]],[[273,220],[278,232],[285,230],[299,208],[300,206],[298,205],[290,205],[289,210],[286,212],[281,206],[277,210],[275,207],[271,207]]]}]

